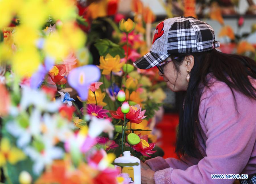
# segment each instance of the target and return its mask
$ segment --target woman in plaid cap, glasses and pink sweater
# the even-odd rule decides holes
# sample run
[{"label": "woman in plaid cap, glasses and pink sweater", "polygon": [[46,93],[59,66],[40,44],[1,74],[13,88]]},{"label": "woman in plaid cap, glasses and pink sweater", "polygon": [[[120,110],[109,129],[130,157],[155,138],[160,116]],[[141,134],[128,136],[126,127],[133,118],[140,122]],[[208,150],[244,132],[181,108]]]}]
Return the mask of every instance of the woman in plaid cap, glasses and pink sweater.
[{"label": "woman in plaid cap, glasses and pink sweater", "polygon": [[[142,183],[233,183],[248,174],[256,182],[256,64],[215,50],[214,30],[194,17],[159,23],[148,54],[134,65],[157,66],[173,91],[186,91],[175,158],[142,163]],[[227,179],[231,177],[232,179]],[[238,178],[237,178],[238,179]]]}]

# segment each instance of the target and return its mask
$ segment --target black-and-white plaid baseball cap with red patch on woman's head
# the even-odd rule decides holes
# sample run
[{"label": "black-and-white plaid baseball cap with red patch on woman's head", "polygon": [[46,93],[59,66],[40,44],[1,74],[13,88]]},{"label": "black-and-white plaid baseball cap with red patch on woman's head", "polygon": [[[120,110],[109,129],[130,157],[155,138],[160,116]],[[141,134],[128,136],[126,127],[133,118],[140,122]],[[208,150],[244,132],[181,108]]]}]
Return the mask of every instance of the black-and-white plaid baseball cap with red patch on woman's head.
[{"label": "black-and-white plaid baseball cap with red patch on woman's head", "polygon": [[171,54],[204,52],[220,46],[212,27],[194,17],[174,17],[160,22],[150,51],[134,62],[140,69],[159,65]]}]

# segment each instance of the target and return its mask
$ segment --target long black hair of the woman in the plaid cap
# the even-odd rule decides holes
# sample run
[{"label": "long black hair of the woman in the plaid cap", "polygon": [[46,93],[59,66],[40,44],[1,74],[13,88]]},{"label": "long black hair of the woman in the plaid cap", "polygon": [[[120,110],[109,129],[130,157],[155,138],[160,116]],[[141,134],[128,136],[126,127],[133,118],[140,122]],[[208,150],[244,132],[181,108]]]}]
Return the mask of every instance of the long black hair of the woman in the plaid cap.
[{"label": "long black hair of the woman in the plaid cap", "polygon": [[211,73],[218,81],[226,83],[232,91],[234,100],[234,90],[256,100],[256,89],[248,79],[248,76],[256,79],[256,62],[245,56],[225,54],[216,49],[198,53],[173,54],[171,58],[177,72],[180,72],[179,65],[188,55],[194,56],[194,66],[191,69],[183,109],[180,111],[175,152],[179,157],[186,154],[199,158],[195,132],[196,122],[199,122],[198,111],[202,90],[211,85],[206,76]]}]

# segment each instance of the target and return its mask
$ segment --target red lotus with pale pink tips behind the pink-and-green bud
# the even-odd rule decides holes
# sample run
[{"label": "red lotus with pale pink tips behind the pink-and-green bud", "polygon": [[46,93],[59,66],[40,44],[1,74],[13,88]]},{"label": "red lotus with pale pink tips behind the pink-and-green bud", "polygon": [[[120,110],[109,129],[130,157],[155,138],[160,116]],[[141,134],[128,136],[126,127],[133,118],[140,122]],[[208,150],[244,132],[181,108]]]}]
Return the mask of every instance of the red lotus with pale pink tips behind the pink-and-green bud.
[{"label": "red lotus with pale pink tips behind the pink-and-green bud", "polygon": [[[139,124],[142,122],[147,116],[144,116],[146,110],[141,111],[140,105],[130,106],[129,112],[126,114],[126,119],[128,119],[131,123]],[[121,111],[121,107],[118,107],[116,111],[111,111],[110,113],[113,118],[115,119],[122,119],[124,120],[124,113]]]}]

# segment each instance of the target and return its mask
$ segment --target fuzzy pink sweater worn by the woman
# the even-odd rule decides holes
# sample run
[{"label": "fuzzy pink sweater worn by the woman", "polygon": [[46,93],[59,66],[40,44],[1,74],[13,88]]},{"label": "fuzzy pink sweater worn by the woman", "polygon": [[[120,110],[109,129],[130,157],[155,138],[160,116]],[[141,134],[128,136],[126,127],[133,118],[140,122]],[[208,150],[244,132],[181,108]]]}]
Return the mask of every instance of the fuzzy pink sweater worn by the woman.
[{"label": "fuzzy pink sweater worn by the woman", "polygon": [[[233,183],[235,179],[212,179],[211,174],[256,174],[256,101],[235,92],[237,113],[230,88],[211,79],[200,100],[198,148],[201,159],[185,156],[156,157],[145,163],[155,171],[155,183]],[[256,87],[256,80],[251,80]]]}]

